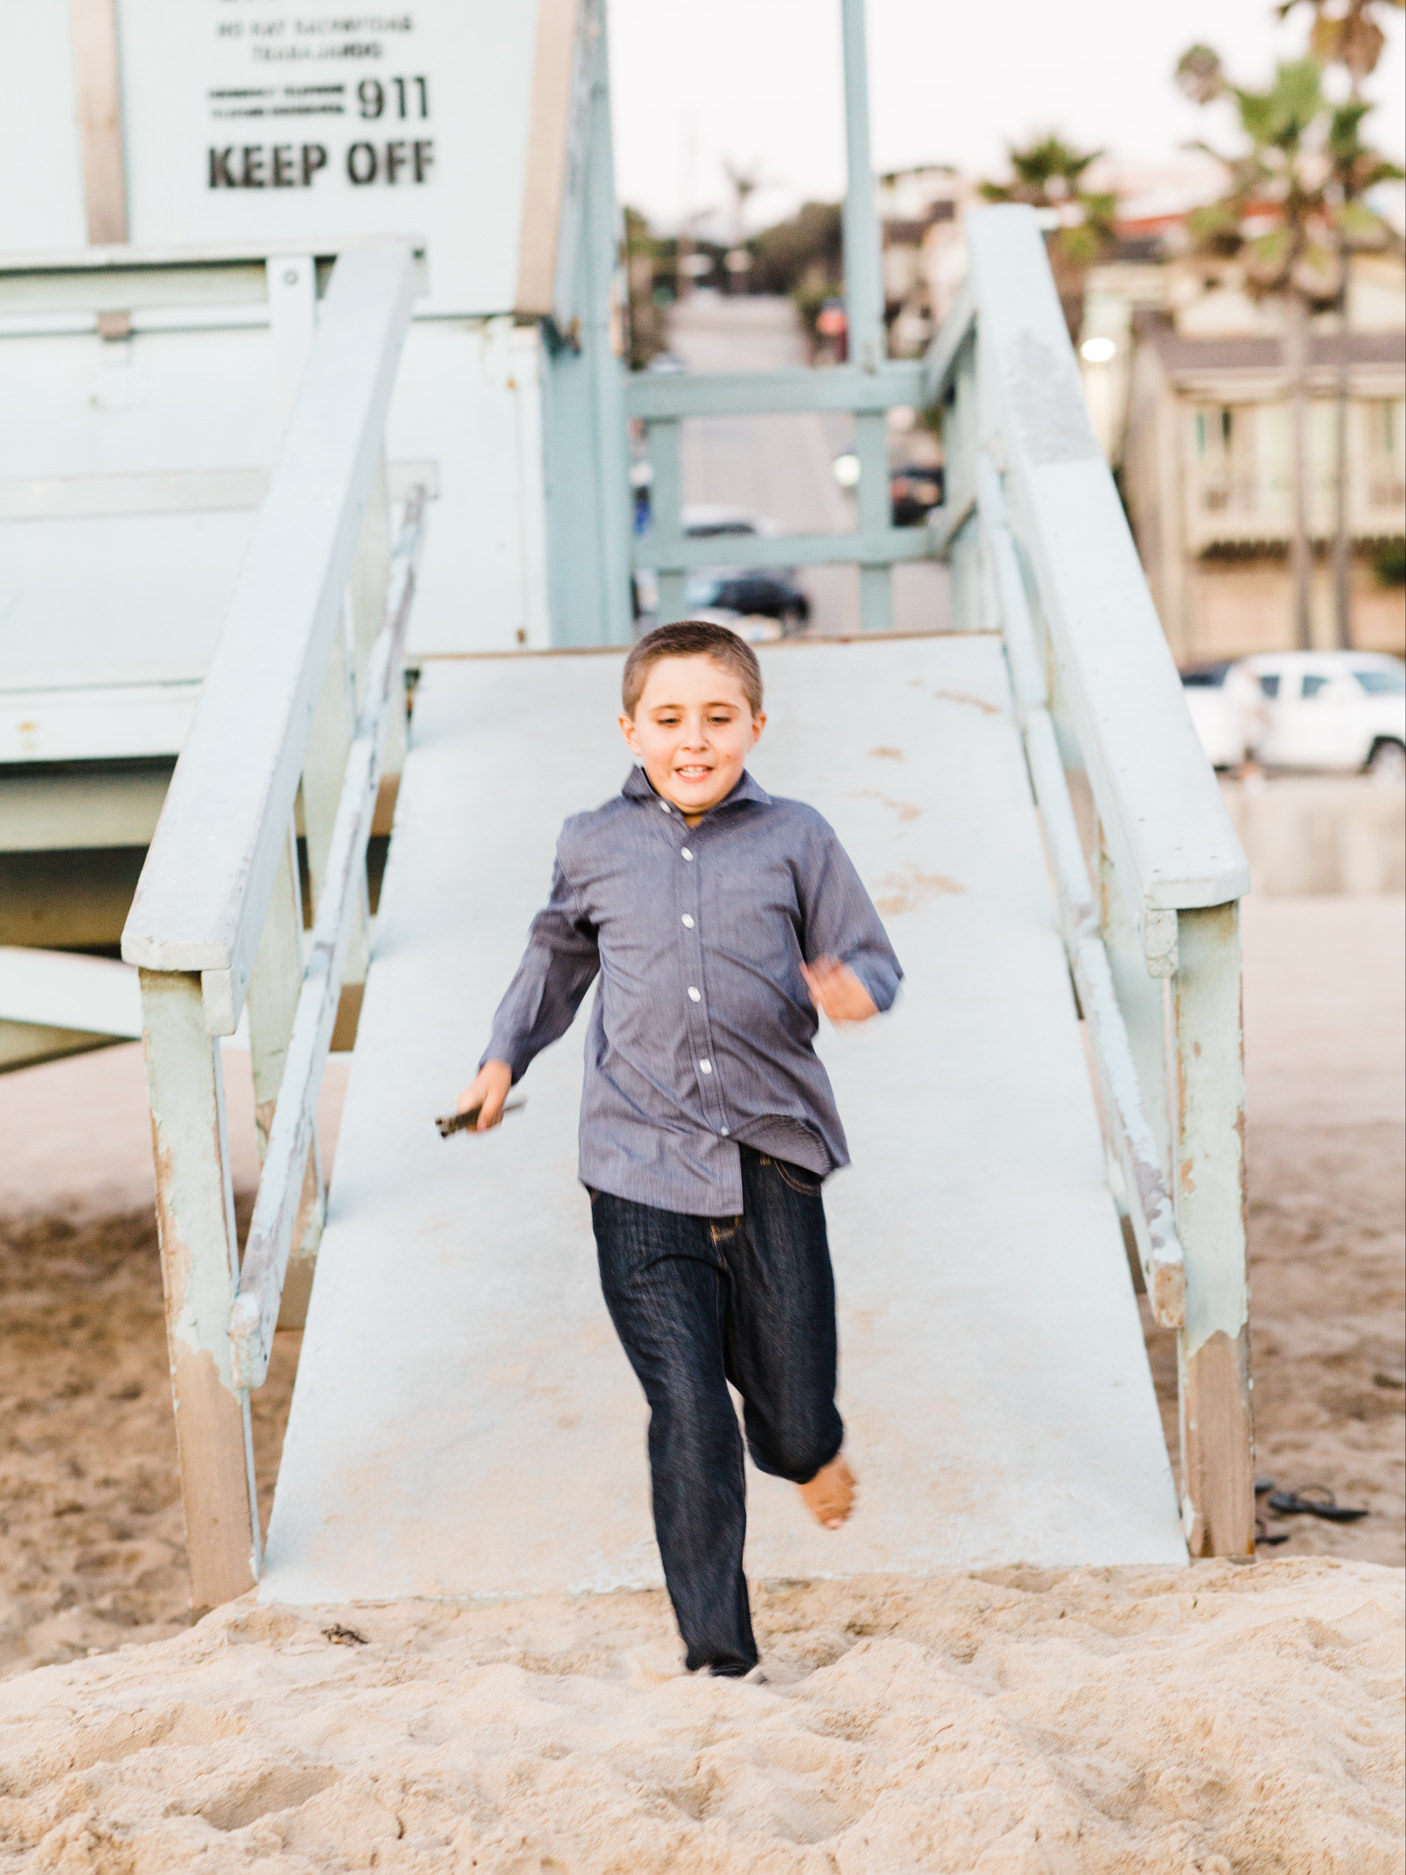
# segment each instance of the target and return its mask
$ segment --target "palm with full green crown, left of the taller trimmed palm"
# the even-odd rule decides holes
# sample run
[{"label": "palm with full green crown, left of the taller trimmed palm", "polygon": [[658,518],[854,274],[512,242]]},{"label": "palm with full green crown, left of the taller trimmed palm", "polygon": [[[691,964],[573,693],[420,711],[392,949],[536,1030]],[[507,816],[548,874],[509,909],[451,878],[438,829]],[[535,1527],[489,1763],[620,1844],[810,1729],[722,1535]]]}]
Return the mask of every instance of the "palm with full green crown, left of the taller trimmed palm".
[{"label": "palm with full green crown, left of the taller trimmed palm", "polygon": [[[1200,144],[1226,169],[1226,191],[1192,210],[1192,248],[1213,268],[1237,266],[1258,300],[1279,300],[1284,313],[1284,366],[1290,379],[1294,433],[1294,527],[1290,574],[1294,636],[1312,643],[1312,546],[1309,538],[1309,321],[1337,306],[1342,253],[1322,154],[1324,71],[1312,58],[1284,64],[1269,90],[1230,84],[1211,47],[1194,45],[1177,66],[1177,84],[1196,103],[1232,98],[1245,146],[1224,156]],[[1269,221],[1269,227],[1262,227]]]}]

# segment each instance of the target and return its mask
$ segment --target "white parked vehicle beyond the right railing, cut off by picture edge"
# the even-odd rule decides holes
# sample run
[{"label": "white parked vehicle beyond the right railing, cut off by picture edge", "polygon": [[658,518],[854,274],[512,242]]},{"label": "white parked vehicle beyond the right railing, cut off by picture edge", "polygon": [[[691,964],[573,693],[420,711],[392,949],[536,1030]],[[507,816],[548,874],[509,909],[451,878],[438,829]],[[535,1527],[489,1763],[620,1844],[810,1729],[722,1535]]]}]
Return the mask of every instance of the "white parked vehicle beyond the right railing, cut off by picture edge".
[{"label": "white parked vehicle beyond the right railing, cut off by picture edge", "polygon": [[1367,769],[1406,778],[1406,666],[1369,651],[1243,658],[1258,684],[1256,761],[1273,769]]}]

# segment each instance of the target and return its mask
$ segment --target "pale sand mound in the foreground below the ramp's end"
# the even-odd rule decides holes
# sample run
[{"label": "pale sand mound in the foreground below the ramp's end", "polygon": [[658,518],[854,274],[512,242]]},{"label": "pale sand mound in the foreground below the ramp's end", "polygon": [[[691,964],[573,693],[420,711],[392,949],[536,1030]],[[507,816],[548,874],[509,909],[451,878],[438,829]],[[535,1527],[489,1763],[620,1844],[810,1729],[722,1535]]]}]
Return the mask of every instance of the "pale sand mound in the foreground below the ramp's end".
[{"label": "pale sand mound in the foreground below the ramp's end", "polygon": [[1395,1569],[774,1586],[759,1635],[767,1688],[679,1676],[658,1594],[234,1603],[0,1688],[0,1868],[1400,1868]]}]

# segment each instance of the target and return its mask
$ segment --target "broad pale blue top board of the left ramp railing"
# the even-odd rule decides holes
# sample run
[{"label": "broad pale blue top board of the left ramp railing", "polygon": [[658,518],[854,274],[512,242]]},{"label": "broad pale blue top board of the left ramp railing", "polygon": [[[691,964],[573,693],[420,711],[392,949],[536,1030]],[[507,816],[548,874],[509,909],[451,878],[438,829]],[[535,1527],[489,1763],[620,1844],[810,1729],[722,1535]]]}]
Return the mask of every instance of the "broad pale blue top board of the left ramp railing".
[{"label": "broad pale blue top board of the left ramp railing", "polygon": [[129,964],[201,971],[212,1035],[234,1033],[249,986],[412,292],[407,244],[356,248],[337,261],[122,932]]}]

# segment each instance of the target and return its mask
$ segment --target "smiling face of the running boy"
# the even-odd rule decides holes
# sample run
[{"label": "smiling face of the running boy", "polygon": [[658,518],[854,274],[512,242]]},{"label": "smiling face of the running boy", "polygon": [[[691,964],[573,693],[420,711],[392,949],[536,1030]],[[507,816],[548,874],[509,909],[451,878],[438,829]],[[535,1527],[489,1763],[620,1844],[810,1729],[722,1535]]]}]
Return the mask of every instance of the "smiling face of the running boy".
[{"label": "smiling face of the running boy", "polygon": [[765,724],[733,671],[712,658],[651,664],[634,716],[621,716],[654,793],[688,818],[727,799]]}]

